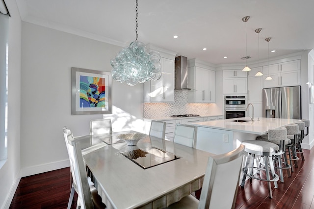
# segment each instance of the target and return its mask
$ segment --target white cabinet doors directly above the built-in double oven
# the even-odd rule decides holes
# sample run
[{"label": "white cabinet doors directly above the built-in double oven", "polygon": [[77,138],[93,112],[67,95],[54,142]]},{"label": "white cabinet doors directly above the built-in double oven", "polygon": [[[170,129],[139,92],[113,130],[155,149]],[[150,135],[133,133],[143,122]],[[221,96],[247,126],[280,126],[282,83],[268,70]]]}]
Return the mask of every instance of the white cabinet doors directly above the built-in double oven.
[{"label": "white cabinet doors directly above the built-in double oven", "polygon": [[223,70],[223,93],[247,93],[247,72]]}]

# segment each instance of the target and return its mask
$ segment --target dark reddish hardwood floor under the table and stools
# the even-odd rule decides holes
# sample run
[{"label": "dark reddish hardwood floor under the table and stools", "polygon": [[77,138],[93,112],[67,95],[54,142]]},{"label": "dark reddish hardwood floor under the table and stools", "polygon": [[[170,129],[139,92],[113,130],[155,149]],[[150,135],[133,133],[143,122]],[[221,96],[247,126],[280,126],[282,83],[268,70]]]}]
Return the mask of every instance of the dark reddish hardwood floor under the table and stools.
[{"label": "dark reddish hardwood floor under the table and stools", "polygon": [[[236,209],[314,209],[314,148],[304,150],[305,161],[298,161],[292,176],[273,188],[268,196],[266,183],[258,180],[239,187]],[[70,195],[70,169],[63,168],[24,177],[10,209],[66,209]],[[223,197],[222,197],[223,198]],[[76,208],[77,195],[72,208]]]}]

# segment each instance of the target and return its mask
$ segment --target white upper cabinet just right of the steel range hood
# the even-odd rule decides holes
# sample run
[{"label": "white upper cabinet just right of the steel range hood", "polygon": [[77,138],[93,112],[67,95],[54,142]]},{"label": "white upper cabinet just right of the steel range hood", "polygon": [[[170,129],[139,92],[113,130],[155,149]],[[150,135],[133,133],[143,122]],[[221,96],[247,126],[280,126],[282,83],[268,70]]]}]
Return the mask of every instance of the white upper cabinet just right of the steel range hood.
[{"label": "white upper cabinet just right of the steel range hood", "polygon": [[188,70],[188,102],[215,102],[215,71],[193,66]]}]

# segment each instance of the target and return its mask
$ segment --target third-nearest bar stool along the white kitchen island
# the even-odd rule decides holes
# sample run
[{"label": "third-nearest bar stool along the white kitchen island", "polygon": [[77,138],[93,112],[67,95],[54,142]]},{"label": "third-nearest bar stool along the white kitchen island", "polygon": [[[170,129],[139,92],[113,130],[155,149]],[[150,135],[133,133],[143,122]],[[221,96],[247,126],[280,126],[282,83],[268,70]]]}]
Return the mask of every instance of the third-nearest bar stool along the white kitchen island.
[{"label": "third-nearest bar stool along the white kitchen island", "polygon": [[[287,128],[287,138],[291,140],[291,142],[287,144],[287,150],[288,150],[288,155],[289,155],[288,160],[290,161],[291,172],[294,172],[292,161],[294,161],[294,166],[298,167],[297,161],[299,160],[299,158],[296,156],[296,153],[295,153],[295,146],[297,144],[297,139],[298,139],[297,137],[299,133],[299,125],[296,123],[291,123],[285,127]],[[291,153],[292,153],[292,156],[291,156]]]}]

